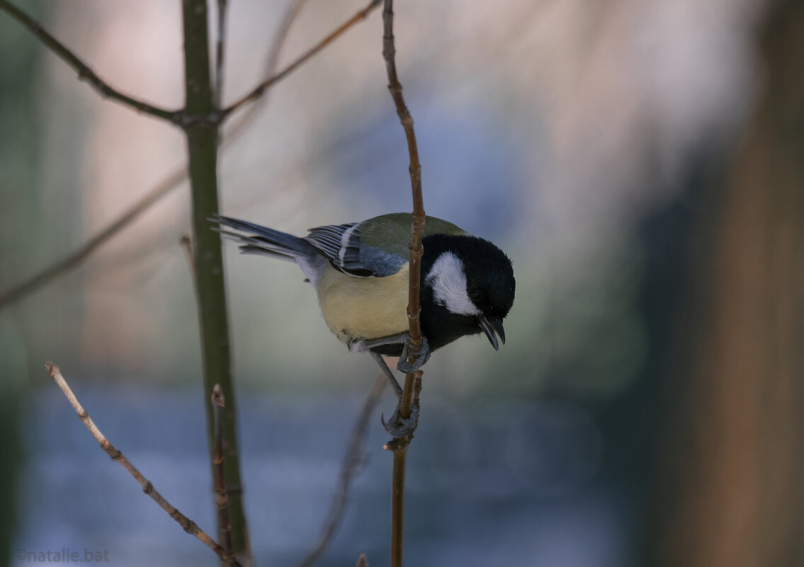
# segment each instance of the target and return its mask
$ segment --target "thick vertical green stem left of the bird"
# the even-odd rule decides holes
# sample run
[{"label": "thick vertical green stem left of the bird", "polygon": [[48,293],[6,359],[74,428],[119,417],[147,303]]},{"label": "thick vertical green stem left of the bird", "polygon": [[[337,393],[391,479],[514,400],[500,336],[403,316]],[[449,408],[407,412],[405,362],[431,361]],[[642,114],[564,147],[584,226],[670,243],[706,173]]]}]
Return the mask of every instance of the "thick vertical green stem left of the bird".
[{"label": "thick vertical green stem left of the bird", "polygon": [[[207,408],[210,454],[214,451],[212,407],[209,399],[215,383],[227,400],[223,412],[224,474],[232,525],[232,549],[245,565],[250,564],[248,529],[240,484],[237,451],[236,404],[229,344],[229,322],[224,287],[223,256],[218,233],[207,220],[218,212],[218,127],[207,118],[215,112],[211,88],[207,3],[184,0],[184,64],[186,127],[192,193],[192,222],[195,235],[195,274],[203,356],[203,400]],[[219,530],[220,530],[219,526]]]}]

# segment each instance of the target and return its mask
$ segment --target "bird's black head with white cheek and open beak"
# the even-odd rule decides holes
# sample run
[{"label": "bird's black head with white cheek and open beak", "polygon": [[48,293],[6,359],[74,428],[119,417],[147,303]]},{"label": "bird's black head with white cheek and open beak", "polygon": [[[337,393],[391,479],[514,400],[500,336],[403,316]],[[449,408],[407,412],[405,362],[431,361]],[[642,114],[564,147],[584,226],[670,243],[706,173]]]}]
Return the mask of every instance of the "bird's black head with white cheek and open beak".
[{"label": "bird's black head with white cheek and open beak", "polygon": [[485,332],[494,349],[505,343],[503,318],[514,304],[511,260],[470,235],[434,235],[421,259],[421,327],[430,349]]}]

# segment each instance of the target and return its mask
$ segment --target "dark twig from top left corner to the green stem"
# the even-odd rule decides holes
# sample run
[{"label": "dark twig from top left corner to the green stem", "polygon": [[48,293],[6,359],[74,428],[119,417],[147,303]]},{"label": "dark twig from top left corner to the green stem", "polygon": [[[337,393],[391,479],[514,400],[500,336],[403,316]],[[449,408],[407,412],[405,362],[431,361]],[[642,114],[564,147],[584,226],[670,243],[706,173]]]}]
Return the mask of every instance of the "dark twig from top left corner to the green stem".
[{"label": "dark twig from top left corner to the green stem", "polygon": [[86,81],[92,88],[100,93],[100,96],[117,100],[126,106],[134,108],[137,110],[137,112],[143,112],[150,116],[167,120],[173,124],[178,124],[180,122],[183,113],[181,110],[166,110],[165,108],[159,108],[153,104],[148,104],[142,100],[137,100],[131,96],[125,95],[122,92],[110,87],[108,83],[100,79],[100,77],[95,74],[95,71],[92,71],[92,69],[89,68],[86,63],[81,61],[81,59],[79,59],[75,53],[70,51],[68,47],[64,45],[64,43],[61,43],[58,39],[55,39],[55,37],[50,35],[50,33],[48,33],[41,26],[41,24],[39,24],[39,22],[37,22],[34,18],[31,18],[31,16],[23,12],[23,10],[20,10],[17,6],[10,4],[10,2],[6,2],[6,0],[0,0],[0,10],[5,10],[6,13],[10,14],[12,18],[23,24],[24,27],[27,27],[28,31],[31,31],[31,34],[35,35],[39,41],[44,43],[48,49],[59,57],[59,59],[62,59],[78,73],[79,80]]}]

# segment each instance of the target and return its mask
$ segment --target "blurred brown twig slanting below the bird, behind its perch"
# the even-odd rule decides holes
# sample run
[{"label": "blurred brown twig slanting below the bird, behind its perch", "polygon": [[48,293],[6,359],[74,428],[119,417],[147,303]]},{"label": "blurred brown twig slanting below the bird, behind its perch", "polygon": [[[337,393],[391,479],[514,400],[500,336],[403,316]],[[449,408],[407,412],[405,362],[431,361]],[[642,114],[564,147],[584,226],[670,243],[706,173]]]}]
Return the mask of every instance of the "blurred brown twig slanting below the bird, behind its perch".
[{"label": "blurred brown twig slanting below the bird, behind its perch", "polygon": [[346,454],[343,455],[341,475],[338,480],[338,490],[333,496],[330,513],[326,516],[326,521],[322,527],[321,534],[318,536],[318,541],[316,541],[313,549],[310,549],[306,557],[299,562],[298,567],[310,567],[315,561],[318,561],[318,558],[321,557],[326,546],[329,545],[332,536],[334,536],[338,524],[340,524],[340,521],[343,519],[343,512],[346,511],[349,501],[351,483],[363,464],[363,437],[366,434],[371,414],[374,413],[377,402],[379,402],[380,394],[383,393],[386,384],[388,384],[388,379],[380,374],[371,392],[368,393],[363,402],[363,407],[360,409],[360,414],[352,430],[351,439],[349,439]]}]

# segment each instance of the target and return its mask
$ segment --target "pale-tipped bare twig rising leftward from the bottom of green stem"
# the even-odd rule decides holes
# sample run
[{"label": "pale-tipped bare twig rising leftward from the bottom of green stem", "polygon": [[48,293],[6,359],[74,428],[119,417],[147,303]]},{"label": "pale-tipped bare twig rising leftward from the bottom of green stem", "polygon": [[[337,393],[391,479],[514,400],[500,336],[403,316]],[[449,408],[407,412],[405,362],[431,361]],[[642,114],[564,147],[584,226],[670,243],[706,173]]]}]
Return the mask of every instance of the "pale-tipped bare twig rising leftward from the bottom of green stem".
[{"label": "pale-tipped bare twig rising leftward from the bottom of green stem", "polygon": [[[78,398],[76,398],[76,394],[73,393],[67,381],[64,379],[64,376],[62,376],[59,367],[52,362],[48,362],[45,365],[45,369],[47,369],[47,374],[53,378],[56,385],[58,385],[61,391],[64,392],[64,396],[68,399],[68,402],[70,402],[72,409],[76,410],[78,418],[89,430],[89,433],[91,433],[92,437],[94,437],[96,441],[100,443],[100,448],[106,451],[106,454],[109,455],[113,461],[120,463],[120,465],[129,472],[129,475],[132,475],[137,483],[140,484],[142,487],[142,492],[145,492],[148,496],[150,496],[151,500],[154,500],[154,502],[159,505],[159,508],[162,508],[162,510],[167,512],[171,518],[176,520],[176,522],[182,526],[185,532],[191,534],[191,536],[197,537],[203,542],[203,544],[207,545],[209,549],[215,552],[218,557],[225,561],[224,548],[215,542],[215,540],[213,540],[207,534],[207,532],[204,532],[203,529],[199,528],[198,524],[195,524],[193,520],[190,520],[187,516],[184,516],[182,512],[179,512],[170,504],[170,502],[165,500],[165,498],[159,494],[157,489],[154,488],[154,485],[150,483],[150,480],[142,476],[142,473],[137,471],[137,467],[134,467],[129,459],[125,458],[125,455],[123,455],[121,451],[118,451],[112,445],[112,443],[109,443],[109,439],[106,439],[105,435],[100,432],[98,427],[95,425],[95,422],[92,421],[92,418],[89,417],[89,414],[81,406]],[[228,565],[240,564],[232,559],[232,561],[229,561]]]}]

